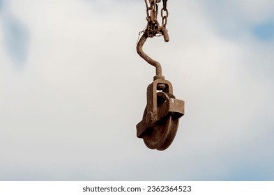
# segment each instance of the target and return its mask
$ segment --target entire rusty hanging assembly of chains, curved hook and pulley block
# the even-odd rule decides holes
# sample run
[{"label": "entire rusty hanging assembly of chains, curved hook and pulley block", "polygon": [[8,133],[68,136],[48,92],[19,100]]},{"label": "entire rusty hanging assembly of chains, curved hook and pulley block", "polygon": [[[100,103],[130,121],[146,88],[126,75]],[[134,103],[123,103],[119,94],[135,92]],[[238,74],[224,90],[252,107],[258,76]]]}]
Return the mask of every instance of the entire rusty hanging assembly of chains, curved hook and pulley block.
[{"label": "entire rusty hanging assembly of chains, curved hook and pulley block", "polygon": [[[175,98],[172,84],[162,75],[160,63],[151,59],[142,49],[147,38],[164,36],[165,41],[169,41],[167,29],[165,29],[167,15],[163,17],[161,14],[162,21],[164,21],[162,26],[157,21],[160,0],[145,0],[145,2],[148,24],[137,43],[137,53],[146,62],[155,66],[156,75],[153,77],[153,82],[147,87],[146,108],[142,120],[136,125],[137,137],[143,139],[148,148],[165,150],[172,144],[176,136],[179,118],[184,115],[185,102]],[[163,0],[163,3],[162,13],[163,11],[167,13],[167,0]]]}]

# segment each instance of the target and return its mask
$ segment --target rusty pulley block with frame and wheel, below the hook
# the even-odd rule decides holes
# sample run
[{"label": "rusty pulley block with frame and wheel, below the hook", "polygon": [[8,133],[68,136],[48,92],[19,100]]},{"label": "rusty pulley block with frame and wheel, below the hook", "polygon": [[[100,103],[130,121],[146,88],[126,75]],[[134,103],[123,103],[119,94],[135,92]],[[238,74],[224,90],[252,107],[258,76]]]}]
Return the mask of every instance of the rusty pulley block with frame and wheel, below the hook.
[{"label": "rusty pulley block with frame and wheel, below the hook", "polygon": [[[158,84],[165,85],[165,89],[157,92]],[[137,137],[144,139],[148,148],[165,150],[176,136],[179,118],[185,113],[185,102],[172,93],[172,84],[165,79],[156,79],[147,88],[143,119],[136,128]]]}]

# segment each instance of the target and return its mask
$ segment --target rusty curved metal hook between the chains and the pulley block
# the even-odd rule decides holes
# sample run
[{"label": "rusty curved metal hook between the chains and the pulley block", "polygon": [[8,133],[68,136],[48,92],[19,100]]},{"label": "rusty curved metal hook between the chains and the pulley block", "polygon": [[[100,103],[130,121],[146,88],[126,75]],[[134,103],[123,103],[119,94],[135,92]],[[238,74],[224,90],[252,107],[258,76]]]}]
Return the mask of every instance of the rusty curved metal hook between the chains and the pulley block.
[{"label": "rusty curved metal hook between the chains and the pulley block", "polygon": [[[160,32],[162,33],[162,35],[164,36],[164,39],[166,42],[169,41],[169,36],[167,33],[167,29],[162,28],[160,29]],[[142,57],[142,59],[144,59],[147,63],[153,65],[156,68],[156,75],[154,77],[155,79],[165,79],[164,76],[162,76],[162,67],[160,65],[160,63],[158,63],[158,61],[155,61],[153,59],[151,59],[150,56],[148,56],[146,53],[144,53],[143,51],[143,46],[144,46],[144,42],[146,42],[146,39],[149,38],[149,33],[147,31],[144,31],[144,34],[142,35],[142,37],[140,38],[140,40],[137,43],[137,53],[139,54],[139,56]]]}]

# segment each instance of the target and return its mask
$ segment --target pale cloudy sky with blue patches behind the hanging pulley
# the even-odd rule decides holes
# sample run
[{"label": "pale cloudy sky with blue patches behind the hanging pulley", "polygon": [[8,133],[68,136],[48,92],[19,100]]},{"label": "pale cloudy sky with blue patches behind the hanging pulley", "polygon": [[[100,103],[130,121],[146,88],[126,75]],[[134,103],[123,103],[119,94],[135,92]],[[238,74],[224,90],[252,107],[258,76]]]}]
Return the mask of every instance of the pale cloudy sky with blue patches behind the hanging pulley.
[{"label": "pale cloudy sky with blue patches behind the hanging pulley", "polygon": [[144,1],[0,0],[0,180],[274,180],[274,1],[167,3],[144,51],[185,116],[158,151]]}]

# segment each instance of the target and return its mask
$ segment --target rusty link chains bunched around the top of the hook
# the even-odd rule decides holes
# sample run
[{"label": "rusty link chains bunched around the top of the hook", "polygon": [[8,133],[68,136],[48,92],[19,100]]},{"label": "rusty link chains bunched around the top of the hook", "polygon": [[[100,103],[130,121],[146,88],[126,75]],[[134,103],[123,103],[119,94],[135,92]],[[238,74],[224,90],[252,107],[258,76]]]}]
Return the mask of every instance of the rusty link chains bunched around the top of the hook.
[{"label": "rusty link chains bunched around the top of the hook", "polygon": [[[167,10],[167,0],[162,0],[163,7],[161,10],[162,25],[158,22],[158,6],[161,0],[144,0],[146,3],[146,20],[148,22],[146,26],[146,33],[149,37],[165,36],[167,17],[169,15]],[[165,31],[165,32],[163,32]]]}]

